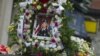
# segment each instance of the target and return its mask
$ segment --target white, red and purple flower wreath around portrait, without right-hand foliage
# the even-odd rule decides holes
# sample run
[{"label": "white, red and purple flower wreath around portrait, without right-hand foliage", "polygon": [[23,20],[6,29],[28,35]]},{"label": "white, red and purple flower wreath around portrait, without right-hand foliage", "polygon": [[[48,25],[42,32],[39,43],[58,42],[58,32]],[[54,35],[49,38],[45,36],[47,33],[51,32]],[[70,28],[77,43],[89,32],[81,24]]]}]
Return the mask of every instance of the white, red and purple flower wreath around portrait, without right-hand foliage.
[{"label": "white, red and purple flower wreath around portrait, without right-hand foliage", "polygon": [[[52,13],[54,14],[52,18],[56,18],[57,20],[54,23],[55,26],[50,25],[52,27],[55,27],[54,30],[50,30],[50,32],[54,33],[56,30],[58,33],[58,28],[60,27],[58,26],[58,24],[60,25],[61,22],[61,20],[59,21],[59,19],[62,19],[62,17],[57,15],[57,14],[60,15],[61,12],[58,13],[55,10],[63,11],[64,8],[61,6],[61,4],[56,5],[58,6],[58,8],[56,8],[56,6],[52,4],[52,2],[56,2],[57,4],[57,1],[49,1],[49,0],[43,0],[43,1],[29,0],[29,1],[19,3],[20,6],[19,11],[21,13],[17,14],[17,16],[19,16],[17,17],[19,18],[18,22],[16,21],[9,26],[9,33],[10,33],[9,36],[12,37],[11,38],[11,40],[13,41],[12,44],[19,46],[18,49],[15,50],[15,54],[33,55],[33,53],[36,53],[37,55],[39,54],[40,56],[41,55],[53,56],[54,54],[58,55],[62,52],[63,45],[61,43],[60,38],[57,36],[58,34],[56,35],[50,34],[50,38],[43,38],[43,39],[39,39],[42,37],[37,38],[35,36],[32,36],[32,32],[33,32],[32,25],[34,21],[33,18],[35,18],[39,13],[45,14],[46,17],[49,14]],[[10,43],[10,46],[14,46],[14,45],[11,45]]]}]

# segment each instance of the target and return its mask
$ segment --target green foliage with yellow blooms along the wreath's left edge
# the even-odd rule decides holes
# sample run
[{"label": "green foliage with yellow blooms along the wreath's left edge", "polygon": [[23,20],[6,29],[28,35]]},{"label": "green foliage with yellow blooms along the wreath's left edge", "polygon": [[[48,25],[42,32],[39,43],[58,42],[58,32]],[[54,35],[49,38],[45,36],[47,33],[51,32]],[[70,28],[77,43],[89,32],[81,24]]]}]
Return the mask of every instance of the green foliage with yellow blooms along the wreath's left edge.
[{"label": "green foliage with yellow blooms along the wreath's left edge", "polygon": [[8,46],[9,47],[12,47],[14,44],[18,43],[17,23],[19,22],[19,16],[23,13],[23,11],[19,7],[19,2],[21,1],[24,1],[24,0],[14,0],[14,4],[13,4],[14,15],[11,20],[11,25],[8,27],[8,36],[9,36]]}]

